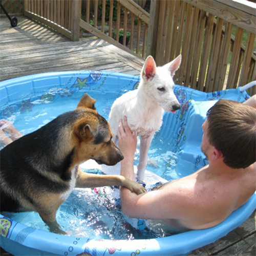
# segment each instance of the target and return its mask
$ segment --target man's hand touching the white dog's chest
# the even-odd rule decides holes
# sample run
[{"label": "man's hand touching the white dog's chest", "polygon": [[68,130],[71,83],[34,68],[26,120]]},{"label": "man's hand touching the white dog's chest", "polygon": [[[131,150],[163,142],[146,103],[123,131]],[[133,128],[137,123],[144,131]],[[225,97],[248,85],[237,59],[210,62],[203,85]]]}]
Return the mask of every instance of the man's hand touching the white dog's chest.
[{"label": "man's hand touching the white dog's chest", "polygon": [[117,135],[118,147],[124,158],[133,160],[137,147],[137,137],[130,130],[126,116],[123,117],[123,122],[121,119],[119,120]]}]

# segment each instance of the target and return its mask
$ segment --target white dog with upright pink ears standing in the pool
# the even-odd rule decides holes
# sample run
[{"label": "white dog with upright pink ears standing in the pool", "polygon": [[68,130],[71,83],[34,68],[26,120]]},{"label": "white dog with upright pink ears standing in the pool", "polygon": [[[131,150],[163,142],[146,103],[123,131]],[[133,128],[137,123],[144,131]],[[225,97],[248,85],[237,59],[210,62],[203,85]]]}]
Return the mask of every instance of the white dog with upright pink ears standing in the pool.
[{"label": "white dog with upright pink ears standing in the pool", "polygon": [[162,125],[164,111],[175,113],[180,104],[174,95],[173,76],[181,63],[181,55],[163,67],[156,67],[155,60],[148,56],[141,71],[138,89],[129,91],[115,100],[109,122],[113,141],[118,140],[118,121],[127,117],[133,134],[140,136],[140,158],[137,179],[142,181],[147,163],[147,152],[156,131]]}]

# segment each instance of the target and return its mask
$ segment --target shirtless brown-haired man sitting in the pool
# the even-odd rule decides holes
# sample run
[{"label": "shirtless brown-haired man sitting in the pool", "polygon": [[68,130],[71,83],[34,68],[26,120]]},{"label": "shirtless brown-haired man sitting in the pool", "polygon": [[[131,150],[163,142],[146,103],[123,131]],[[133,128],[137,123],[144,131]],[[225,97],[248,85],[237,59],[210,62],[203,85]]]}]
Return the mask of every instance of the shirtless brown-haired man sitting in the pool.
[{"label": "shirtless brown-haired man sitting in the pool", "polygon": [[[247,104],[247,105],[246,105]],[[162,220],[180,230],[204,229],[224,221],[256,190],[256,95],[245,104],[219,100],[202,125],[202,151],[209,164],[196,173],[139,196],[120,188],[121,207],[131,218]],[[119,121],[121,175],[134,176],[136,137]]]}]

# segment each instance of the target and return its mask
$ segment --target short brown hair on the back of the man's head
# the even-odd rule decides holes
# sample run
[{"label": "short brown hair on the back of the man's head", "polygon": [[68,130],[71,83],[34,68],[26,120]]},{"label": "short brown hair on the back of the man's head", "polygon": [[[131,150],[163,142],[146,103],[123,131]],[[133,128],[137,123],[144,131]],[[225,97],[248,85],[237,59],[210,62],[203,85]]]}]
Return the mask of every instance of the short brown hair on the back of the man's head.
[{"label": "short brown hair on the back of the man's head", "polygon": [[256,161],[256,109],[221,99],[208,110],[205,126],[209,144],[227,166],[246,168]]}]

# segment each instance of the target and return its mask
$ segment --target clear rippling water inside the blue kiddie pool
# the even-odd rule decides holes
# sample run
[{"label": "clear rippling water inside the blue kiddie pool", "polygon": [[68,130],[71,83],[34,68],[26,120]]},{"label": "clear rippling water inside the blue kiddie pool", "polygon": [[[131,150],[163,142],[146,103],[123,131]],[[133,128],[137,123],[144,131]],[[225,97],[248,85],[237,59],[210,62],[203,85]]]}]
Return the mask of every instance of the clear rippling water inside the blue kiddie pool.
[{"label": "clear rippling water inside the blue kiddie pool", "polygon": [[[108,119],[111,105],[123,92],[116,91],[90,91],[91,97],[97,99],[96,109]],[[44,100],[35,98],[24,99],[15,105],[1,110],[1,119],[10,120],[23,134],[31,133],[42,125],[50,122],[63,112],[72,111],[84,94],[78,92],[72,97],[58,97],[51,100],[51,91]],[[148,167],[157,175],[167,180],[180,177],[175,172],[176,155],[173,152],[163,150],[163,141],[156,134],[152,142],[149,156],[158,162],[159,167]],[[138,162],[138,151],[135,164]],[[100,173],[98,169],[86,170]],[[147,221],[129,219],[120,209],[118,189],[114,187],[75,189],[68,200],[63,203],[57,212],[57,221],[63,230],[76,237],[90,237],[96,239],[149,239],[168,236],[163,231],[161,224],[155,224],[154,228],[147,225]],[[48,231],[47,226],[41,221],[37,212],[22,212],[18,214],[5,213],[6,217],[19,223],[26,224],[37,229]]]}]

